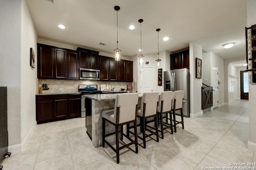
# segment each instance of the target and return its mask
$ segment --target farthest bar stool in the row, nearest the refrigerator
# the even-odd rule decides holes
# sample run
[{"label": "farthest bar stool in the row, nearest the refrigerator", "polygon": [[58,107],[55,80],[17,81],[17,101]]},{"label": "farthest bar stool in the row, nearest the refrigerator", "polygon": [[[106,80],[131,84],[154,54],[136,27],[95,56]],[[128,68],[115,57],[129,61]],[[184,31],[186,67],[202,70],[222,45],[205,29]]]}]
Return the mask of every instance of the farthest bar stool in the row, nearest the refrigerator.
[{"label": "farthest bar stool in the row, nearest the refrigerator", "polygon": [[[183,110],[182,110],[182,104],[183,104],[183,98],[184,98],[184,91],[183,90],[177,90],[173,93],[173,102],[172,102],[172,115],[173,115],[173,124],[174,124],[174,132],[176,133],[176,125],[182,123],[182,129],[184,129],[184,121],[183,121]],[[175,115],[177,114],[175,111],[180,110],[180,116],[181,121],[176,121]]]}]

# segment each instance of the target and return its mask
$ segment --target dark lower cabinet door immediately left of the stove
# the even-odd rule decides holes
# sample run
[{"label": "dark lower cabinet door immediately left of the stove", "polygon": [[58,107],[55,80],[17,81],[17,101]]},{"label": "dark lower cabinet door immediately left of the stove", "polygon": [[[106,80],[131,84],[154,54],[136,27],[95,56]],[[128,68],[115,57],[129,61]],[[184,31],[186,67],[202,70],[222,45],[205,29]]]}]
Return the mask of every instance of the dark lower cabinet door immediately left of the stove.
[{"label": "dark lower cabinet door immediately left of the stove", "polygon": [[80,117],[80,116],[81,116],[80,98],[69,99],[69,117],[73,118],[73,117]]}]

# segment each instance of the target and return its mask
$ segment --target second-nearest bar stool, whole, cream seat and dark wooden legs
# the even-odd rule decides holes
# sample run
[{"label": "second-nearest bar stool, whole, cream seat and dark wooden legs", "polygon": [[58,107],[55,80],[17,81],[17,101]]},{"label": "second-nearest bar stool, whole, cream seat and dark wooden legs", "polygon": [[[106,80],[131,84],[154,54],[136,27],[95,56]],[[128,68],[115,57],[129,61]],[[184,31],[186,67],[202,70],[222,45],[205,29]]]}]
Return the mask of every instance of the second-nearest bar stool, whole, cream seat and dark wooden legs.
[{"label": "second-nearest bar stool, whole, cream seat and dark wooden legs", "polygon": [[[158,137],[158,117],[157,117],[157,104],[158,104],[159,93],[158,92],[149,92],[143,93],[141,100],[141,107],[138,110],[137,117],[140,118],[140,128],[142,130],[142,137],[138,135],[138,138],[143,140],[143,148],[146,148],[146,137],[150,137],[152,135],[156,135],[156,141],[159,142]],[[147,125],[148,118],[154,118],[155,127],[150,127]],[[155,132],[151,131],[147,127],[150,127]],[[146,134],[146,131],[150,132],[150,134]],[[130,132],[132,133],[132,132]],[[153,138],[152,138],[153,139]],[[138,144],[140,145],[140,144]],[[140,145],[141,146],[141,145]],[[142,147],[142,146],[141,146]]]}]

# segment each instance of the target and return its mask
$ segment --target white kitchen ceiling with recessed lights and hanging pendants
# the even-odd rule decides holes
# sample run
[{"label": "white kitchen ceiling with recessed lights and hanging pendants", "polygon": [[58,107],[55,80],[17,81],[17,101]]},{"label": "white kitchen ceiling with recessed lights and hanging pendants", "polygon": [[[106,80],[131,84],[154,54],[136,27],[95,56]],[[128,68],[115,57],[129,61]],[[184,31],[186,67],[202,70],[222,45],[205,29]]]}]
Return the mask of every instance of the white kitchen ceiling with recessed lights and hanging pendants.
[{"label": "white kitchen ceiling with recessed lights and hanging pendants", "polygon": [[[246,58],[246,0],[26,0],[39,38],[114,53],[116,11],[118,42],[122,55],[140,52],[142,22],[143,54],[175,52],[196,41],[204,51],[222,59]],[[66,29],[58,28],[63,24]],[[135,25],[134,30],[128,29]],[[162,38],[168,36],[168,41]],[[99,45],[104,42],[107,45]],[[223,44],[235,42],[231,49]]]}]

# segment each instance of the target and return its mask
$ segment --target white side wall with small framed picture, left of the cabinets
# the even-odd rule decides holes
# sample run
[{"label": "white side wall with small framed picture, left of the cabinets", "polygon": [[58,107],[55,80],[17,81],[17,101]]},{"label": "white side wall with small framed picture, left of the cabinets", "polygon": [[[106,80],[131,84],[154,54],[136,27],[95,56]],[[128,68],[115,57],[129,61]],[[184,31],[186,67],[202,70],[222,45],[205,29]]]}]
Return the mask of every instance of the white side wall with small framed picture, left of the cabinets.
[{"label": "white side wall with small framed picture, left of the cabinets", "polygon": [[[25,0],[21,4],[21,51],[20,51],[20,121],[22,150],[28,141],[33,125],[36,125],[36,81],[35,68],[30,67],[30,48],[37,54],[37,33]],[[36,56],[35,56],[36,58]],[[32,129],[31,129],[32,128]]]}]

